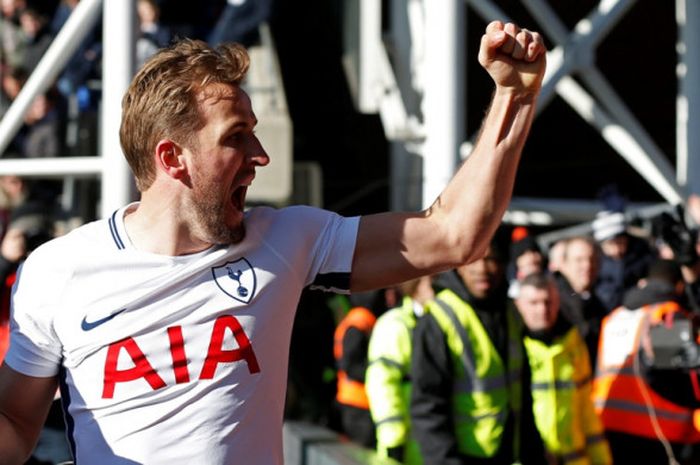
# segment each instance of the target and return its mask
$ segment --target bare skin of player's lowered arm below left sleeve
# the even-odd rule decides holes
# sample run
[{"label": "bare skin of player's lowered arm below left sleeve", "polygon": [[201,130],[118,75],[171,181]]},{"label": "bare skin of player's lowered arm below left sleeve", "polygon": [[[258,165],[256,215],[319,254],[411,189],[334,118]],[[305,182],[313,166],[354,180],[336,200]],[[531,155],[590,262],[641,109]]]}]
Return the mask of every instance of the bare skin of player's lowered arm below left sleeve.
[{"label": "bare skin of player's lowered arm below left sleeve", "polygon": [[0,464],[23,463],[19,460],[29,455],[46,420],[56,386],[55,376],[37,378],[23,375],[7,364],[0,367]]}]

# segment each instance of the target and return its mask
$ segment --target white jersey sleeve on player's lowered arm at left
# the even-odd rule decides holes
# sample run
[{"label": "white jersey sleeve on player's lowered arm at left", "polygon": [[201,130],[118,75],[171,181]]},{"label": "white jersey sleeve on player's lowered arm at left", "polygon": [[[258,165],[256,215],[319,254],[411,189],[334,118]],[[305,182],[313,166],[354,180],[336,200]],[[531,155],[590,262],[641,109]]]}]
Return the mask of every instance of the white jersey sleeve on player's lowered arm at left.
[{"label": "white jersey sleeve on player's lowered arm at left", "polygon": [[5,362],[28,376],[50,377],[58,373],[61,343],[53,327],[64,277],[34,257],[20,267],[12,291],[10,348]]}]

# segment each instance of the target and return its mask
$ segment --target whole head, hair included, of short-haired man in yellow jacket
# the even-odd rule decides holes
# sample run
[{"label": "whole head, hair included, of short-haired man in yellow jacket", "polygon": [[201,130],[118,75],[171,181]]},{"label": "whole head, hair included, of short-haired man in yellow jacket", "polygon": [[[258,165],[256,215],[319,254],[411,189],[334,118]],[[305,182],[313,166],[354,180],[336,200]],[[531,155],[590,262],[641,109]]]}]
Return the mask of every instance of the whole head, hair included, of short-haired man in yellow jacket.
[{"label": "whole head, hair included, of short-haired man in yellow jacket", "polygon": [[520,281],[515,306],[528,330],[550,330],[559,315],[559,290],[551,275],[537,272],[525,276]]}]

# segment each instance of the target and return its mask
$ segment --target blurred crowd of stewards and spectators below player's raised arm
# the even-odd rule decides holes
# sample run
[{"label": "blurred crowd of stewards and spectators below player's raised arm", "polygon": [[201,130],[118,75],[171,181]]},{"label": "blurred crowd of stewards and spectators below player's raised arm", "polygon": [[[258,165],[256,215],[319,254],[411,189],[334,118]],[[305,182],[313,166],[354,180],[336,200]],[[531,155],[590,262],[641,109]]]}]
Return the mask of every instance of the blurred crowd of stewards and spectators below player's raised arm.
[{"label": "blurred crowd of stewards and spectators below player's raised arm", "polygon": [[406,464],[700,463],[699,204],[504,225],[464,267],[310,293],[288,418]]}]

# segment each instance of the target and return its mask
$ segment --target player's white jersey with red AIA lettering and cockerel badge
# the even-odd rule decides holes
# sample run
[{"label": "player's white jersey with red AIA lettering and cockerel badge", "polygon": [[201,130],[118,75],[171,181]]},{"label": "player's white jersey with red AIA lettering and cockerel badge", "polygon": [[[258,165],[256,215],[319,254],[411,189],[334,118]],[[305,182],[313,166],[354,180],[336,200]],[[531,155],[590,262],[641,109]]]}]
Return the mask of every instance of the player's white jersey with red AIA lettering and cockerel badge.
[{"label": "player's white jersey with red AIA lettering and cockerel badge", "polygon": [[170,257],[125,208],[32,253],[7,364],[59,376],[77,464],[281,464],[299,296],[348,290],[358,218],[255,208],[240,244]]}]

